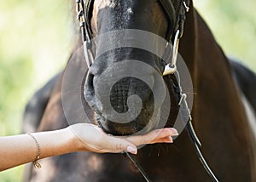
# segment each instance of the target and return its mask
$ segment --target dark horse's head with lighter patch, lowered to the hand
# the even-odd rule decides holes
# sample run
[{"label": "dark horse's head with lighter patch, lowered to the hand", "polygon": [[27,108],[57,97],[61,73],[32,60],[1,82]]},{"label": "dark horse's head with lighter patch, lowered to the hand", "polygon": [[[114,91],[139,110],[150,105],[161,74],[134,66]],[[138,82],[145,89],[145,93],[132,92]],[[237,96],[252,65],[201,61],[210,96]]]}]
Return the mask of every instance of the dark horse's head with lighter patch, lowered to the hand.
[{"label": "dark horse's head with lighter patch, lowered to the hand", "polygon": [[[164,71],[163,60],[142,48],[123,44],[129,41],[133,45],[144,43],[150,49],[164,53],[166,45],[161,44],[158,38],[148,38],[150,41],[147,37],[142,38],[148,32],[162,39],[171,37],[175,18],[166,14],[166,4],[160,2],[96,0],[90,5],[93,9],[87,7],[88,11],[91,9],[87,14],[91,17],[89,26],[92,35],[100,38],[95,43],[95,60],[84,83],[84,97],[94,109],[97,122],[108,133],[125,135],[137,133],[143,128],[144,132],[158,128],[160,107],[166,92],[160,95],[154,93],[160,88],[164,90],[159,79]],[[169,2],[167,8],[173,8],[171,1],[163,2]],[[112,49],[106,51],[106,47]],[[99,82],[113,80],[115,82],[109,93],[108,88],[98,86]],[[98,91],[101,94],[96,94]]]}]

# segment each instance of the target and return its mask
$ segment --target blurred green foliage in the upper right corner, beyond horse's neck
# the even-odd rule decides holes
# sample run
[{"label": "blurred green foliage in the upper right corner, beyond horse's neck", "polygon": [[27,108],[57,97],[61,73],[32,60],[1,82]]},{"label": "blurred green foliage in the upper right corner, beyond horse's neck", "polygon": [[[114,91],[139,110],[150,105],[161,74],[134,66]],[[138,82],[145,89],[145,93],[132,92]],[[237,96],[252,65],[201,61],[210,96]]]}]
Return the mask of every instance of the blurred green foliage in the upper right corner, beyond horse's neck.
[{"label": "blurred green foliage in the upper right corner, beyond horse's neck", "polygon": [[195,0],[226,54],[256,71],[256,14],[254,0]]}]

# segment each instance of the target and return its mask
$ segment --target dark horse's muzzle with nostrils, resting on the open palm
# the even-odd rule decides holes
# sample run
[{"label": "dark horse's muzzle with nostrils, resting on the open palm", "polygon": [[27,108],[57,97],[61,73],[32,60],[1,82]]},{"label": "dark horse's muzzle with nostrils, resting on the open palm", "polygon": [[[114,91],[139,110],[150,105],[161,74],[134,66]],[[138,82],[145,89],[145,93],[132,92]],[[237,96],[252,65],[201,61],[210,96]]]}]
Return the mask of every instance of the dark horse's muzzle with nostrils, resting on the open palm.
[{"label": "dark horse's muzzle with nostrils, resting on the open palm", "polygon": [[145,70],[140,77],[122,77],[119,69],[115,71],[119,77],[114,77],[113,70],[102,76],[91,69],[85,80],[84,98],[95,111],[96,121],[109,134],[148,132],[160,117],[154,74]]}]

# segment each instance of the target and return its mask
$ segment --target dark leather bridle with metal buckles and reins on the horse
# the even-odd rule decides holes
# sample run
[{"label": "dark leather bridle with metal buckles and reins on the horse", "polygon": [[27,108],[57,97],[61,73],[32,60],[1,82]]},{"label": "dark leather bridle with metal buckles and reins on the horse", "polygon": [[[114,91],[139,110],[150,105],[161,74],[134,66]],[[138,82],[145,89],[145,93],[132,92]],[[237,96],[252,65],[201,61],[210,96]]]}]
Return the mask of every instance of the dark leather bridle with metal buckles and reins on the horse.
[{"label": "dark leather bridle with metal buckles and reins on the horse", "polygon": [[[209,168],[206,160],[201,154],[201,142],[195,134],[195,129],[192,125],[192,117],[189,111],[189,106],[187,103],[187,95],[183,94],[183,90],[180,84],[180,77],[177,71],[177,51],[179,40],[183,37],[183,26],[186,19],[186,12],[189,12],[189,1],[190,0],[182,0],[175,1],[172,3],[172,0],[158,0],[162,9],[166,14],[168,20],[168,31],[166,33],[166,40],[168,44],[166,45],[165,54],[168,63],[166,63],[165,71],[163,72],[163,76],[169,77],[170,82],[172,84],[172,88],[174,88],[174,92],[177,96],[177,105],[180,107],[180,111],[182,113],[183,121],[188,121],[186,125],[186,129],[189,133],[189,138],[191,139],[192,144],[195,147],[195,152],[199,157],[201,164],[206,169],[207,173],[210,175],[212,181],[218,182],[218,179],[215,177],[214,173],[212,173],[211,168]],[[88,68],[93,63],[94,54],[92,51],[93,44],[91,43],[92,33],[90,27],[90,17],[93,7],[93,0],[76,0],[76,10],[77,10],[77,19],[79,20],[79,26],[82,34],[82,41],[84,44],[84,58]],[[174,9],[176,7],[177,11]],[[174,36],[174,37],[173,37]],[[171,46],[169,43],[172,42]],[[172,47],[172,54],[170,53],[170,48]],[[175,75],[177,77],[177,83],[172,82],[172,78],[170,75]],[[124,153],[125,156],[128,156],[131,162],[137,167],[140,173],[143,175],[146,181],[152,181],[149,179],[147,173],[143,170],[143,168],[137,163],[135,158],[133,158],[128,152]]]}]

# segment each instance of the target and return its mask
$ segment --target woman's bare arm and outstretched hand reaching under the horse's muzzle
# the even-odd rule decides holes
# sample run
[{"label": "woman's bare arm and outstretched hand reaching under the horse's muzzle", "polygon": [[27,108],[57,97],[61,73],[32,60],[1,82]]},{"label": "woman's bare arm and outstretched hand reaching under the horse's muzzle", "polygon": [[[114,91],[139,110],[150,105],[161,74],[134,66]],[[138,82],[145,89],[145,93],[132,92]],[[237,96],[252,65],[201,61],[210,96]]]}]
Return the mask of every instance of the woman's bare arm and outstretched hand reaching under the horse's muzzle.
[{"label": "woman's bare arm and outstretched hand reaching under the horse's muzzle", "polygon": [[[40,159],[75,151],[137,154],[137,146],[154,143],[172,143],[177,135],[174,128],[157,129],[143,135],[112,136],[93,124],[79,123],[67,128],[33,133],[40,148]],[[0,171],[34,162],[38,145],[29,134],[0,137]]]}]

